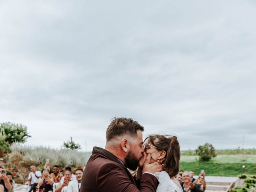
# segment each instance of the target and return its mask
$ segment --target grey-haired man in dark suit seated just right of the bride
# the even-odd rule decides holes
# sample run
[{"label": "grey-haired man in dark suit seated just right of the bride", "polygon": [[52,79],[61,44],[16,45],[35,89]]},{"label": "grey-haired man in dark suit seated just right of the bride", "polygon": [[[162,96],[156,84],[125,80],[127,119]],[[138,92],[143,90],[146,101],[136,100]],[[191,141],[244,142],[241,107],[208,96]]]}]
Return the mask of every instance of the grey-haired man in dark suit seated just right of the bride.
[{"label": "grey-haired man in dark suit seated just right of the bride", "polygon": [[182,174],[183,182],[181,182],[181,187],[183,192],[202,192],[198,184],[191,182],[191,174],[188,171],[183,172]]}]

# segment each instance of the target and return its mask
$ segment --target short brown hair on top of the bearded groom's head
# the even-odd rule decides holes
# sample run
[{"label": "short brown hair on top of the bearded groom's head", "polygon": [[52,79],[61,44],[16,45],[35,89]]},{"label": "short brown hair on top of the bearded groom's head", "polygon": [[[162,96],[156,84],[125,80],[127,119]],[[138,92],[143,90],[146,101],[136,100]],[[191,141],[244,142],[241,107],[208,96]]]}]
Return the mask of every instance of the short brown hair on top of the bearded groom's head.
[{"label": "short brown hair on top of the bearded groom's head", "polygon": [[106,139],[109,141],[116,136],[124,134],[135,137],[137,136],[138,130],[144,131],[144,128],[136,120],[125,117],[114,117],[107,128]]}]

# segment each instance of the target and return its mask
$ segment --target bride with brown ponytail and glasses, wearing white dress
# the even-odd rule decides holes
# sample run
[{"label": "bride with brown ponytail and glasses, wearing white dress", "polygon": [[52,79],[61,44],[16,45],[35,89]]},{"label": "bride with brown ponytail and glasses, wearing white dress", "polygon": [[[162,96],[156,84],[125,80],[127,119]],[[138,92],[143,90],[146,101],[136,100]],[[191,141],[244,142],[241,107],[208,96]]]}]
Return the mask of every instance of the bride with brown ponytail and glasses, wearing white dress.
[{"label": "bride with brown ponytail and glasses, wearing white dress", "polygon": [[[158,162],[163,166],[163,171],[154,175],[158,178],[159,185],[156,192],[182,192],[180,183],[175,176],[180,167],[180,145],[176,136],[150,135],[143,143],[146,154],[151,155],[150,163]],[[137,172],[139,178],[140,168]]]}]

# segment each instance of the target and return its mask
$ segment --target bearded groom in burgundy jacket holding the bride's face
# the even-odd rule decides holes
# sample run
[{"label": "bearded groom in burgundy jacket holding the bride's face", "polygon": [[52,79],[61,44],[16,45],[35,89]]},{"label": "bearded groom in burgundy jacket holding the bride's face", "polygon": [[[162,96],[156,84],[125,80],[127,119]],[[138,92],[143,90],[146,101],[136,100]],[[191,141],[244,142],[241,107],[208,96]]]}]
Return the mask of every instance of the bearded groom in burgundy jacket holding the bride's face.
[{"label": "bearded groom in burgundy jacket holding the bride's face", "polygon": [[[162,166],[149,164],[142,147],[143,126],[130,118],[113,118],[106,131],[105,149],[94,147],[84,170],[80,192],[155,192],[158,180],[153,175]],[[129,170],[136,170],[139,161],[144,163],[141,179],[134,178]]]}]

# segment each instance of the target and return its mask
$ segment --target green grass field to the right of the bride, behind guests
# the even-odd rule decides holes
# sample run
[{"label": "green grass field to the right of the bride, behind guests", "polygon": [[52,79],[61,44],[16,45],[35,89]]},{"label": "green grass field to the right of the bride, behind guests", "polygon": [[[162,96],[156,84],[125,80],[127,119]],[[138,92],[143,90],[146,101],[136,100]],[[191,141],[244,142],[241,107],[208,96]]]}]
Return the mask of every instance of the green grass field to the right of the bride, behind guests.
[{"label": "green grass field to the right of the bride, behind guests", "polygon": [[199,174],[204,169],[208,176],[237,176],[245,165],[246,174],[256,174],[256,155],[218,155],[209,162],[198,161],[198,156],[182,156],[180,170],[194,170]]}]

